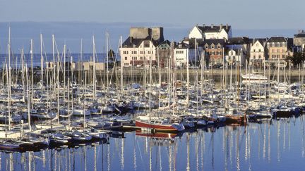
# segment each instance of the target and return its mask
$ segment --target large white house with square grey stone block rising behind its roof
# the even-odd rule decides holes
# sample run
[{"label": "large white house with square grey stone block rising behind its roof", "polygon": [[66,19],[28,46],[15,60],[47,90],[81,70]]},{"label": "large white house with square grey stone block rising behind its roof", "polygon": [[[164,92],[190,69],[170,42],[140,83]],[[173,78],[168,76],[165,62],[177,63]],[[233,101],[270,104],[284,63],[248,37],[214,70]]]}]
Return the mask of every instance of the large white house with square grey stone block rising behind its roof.
[{"label": "large white house with square grey stone block rising behind its roof", "polygon": [[157,65],[156,47],[164,41],[162,27],[132,27],[129,37],[119,49],[121,65],[143,66]]}]

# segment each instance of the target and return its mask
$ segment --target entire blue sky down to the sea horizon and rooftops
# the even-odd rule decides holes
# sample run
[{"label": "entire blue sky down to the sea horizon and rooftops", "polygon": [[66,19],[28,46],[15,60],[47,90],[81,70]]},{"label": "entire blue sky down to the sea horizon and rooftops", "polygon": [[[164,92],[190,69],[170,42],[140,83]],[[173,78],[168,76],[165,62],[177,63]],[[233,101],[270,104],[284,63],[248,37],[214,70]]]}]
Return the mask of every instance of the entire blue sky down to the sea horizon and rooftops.
[{"label": "entire blue sky down to the sea horizon and rooftops", "polygon": [[198,25],[232,25],[234,37],[293,37],[305,30],[305,0],[0,0],[0,53],[6,53],[8,25],[12,48],[29,49],[40,33],[46,51],[52,34],[61,51],[66,43],[73,53],[92,52],[92,35],[98,52],[104,52],[106,32],[114,51],[128,37],[130,27],[164,27],[165,39],[179,41]]}]

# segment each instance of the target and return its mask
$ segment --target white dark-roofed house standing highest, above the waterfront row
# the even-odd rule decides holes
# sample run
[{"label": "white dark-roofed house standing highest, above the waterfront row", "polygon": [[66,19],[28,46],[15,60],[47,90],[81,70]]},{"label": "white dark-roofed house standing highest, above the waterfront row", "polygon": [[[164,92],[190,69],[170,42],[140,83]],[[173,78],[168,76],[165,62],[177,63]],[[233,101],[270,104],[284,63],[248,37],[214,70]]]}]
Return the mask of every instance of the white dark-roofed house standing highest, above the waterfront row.
[{"label": "white dark-roofed house standing highest, above the waterfront row", "polygon": [[232,28],[230,25],[196,25],[189,33],[189,39],[229,39],[232,37]]}]

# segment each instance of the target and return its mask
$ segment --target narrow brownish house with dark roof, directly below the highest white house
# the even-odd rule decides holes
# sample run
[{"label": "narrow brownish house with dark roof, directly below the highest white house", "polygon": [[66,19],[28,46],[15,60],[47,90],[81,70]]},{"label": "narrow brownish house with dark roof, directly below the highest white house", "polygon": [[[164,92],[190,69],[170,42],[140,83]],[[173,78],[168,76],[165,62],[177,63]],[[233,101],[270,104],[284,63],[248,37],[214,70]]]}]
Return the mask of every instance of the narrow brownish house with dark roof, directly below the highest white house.
[{"label": "narrow brownish house with dark roof, directly below the highest white house", "polygon": [[205,39],[203,49],[208,63],[217,65],[224,62],[225,39]]}]

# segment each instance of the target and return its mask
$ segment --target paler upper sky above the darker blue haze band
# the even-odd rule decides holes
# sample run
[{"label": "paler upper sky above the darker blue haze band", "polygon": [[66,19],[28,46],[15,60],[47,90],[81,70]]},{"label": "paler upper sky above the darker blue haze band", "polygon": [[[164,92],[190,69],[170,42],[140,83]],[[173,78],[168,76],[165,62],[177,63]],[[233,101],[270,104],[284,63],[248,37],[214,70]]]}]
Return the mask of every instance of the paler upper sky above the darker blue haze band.
[{"label": "paler upper sky above the darker blue haze band", "polygon": [[0,22],[145,22],[188,26],[229,23],[239,29],[305,27],[304,0],[0,0]]}]

